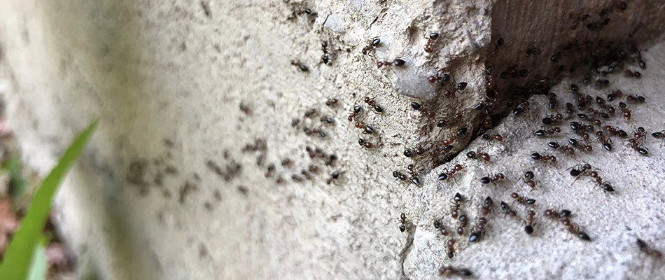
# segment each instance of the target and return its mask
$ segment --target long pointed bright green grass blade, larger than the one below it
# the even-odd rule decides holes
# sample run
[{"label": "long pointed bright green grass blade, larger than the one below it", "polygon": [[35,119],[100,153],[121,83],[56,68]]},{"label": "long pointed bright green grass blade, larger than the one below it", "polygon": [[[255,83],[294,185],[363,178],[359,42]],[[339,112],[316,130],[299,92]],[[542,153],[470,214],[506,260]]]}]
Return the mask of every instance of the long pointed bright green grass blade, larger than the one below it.
[{"label": "long pointed bright green grass blade, larger than the one below it", "polygon": [[76,162],[78,155],[85,148],[87,141],[92,137],[92,132],[97,127],[97,123],[98,120],[94,120],[85,131],[78,135],[37,189],[30,203],[30,208],[9,244],[3,262],[0,264],[0,279],[27,279],[32,256],[42,238],[53,195],[55,195],[57,187],[71,165]]}]

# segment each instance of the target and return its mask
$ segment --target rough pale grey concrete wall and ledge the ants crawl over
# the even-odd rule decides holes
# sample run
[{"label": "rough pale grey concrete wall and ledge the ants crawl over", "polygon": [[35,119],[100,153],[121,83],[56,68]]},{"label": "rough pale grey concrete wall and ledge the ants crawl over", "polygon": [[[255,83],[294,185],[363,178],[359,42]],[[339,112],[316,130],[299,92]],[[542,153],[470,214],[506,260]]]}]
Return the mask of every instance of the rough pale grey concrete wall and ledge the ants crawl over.
[{"label": "rough pale grey concrete wall and ledge the ants crawl over", "polygon": [[[6,85],[9,122],[26,162],[48,172],[74,132],[91,118],[102,118],[55,206],[60,230],[81,254],[81,274],[430,279],[438,277],[442,264],[468,267],[480,279],[662,274],[661,265],[640,255],[634,244],[640,237],[662,249],[663,204],[656,186],[663,181],[658,169],[663,165],[656,142],[647,141],[652,155],[644,158],[619,139],[607,153],[592,137],[590,155],[568,160],[552,151],[559,163],[540,165],[528,154],[549,148],[528,136],[551,113],[542,109],[544,97],[533,97],[523,116],[500,118],[515,95],[508,90],[551,71],[553,66],[541,65],[559,46],[549,42],[552,38],[563,44],[629,38],[650,47],[659,42],[661,3],[631,1],[624,12],[612,8],[612,21],[603,30],[574,32],[563,29],[576,22],[577,13],[589,11],[589,20],[598,20],[603,8],[619,2],[562,1],[554,7],[531,1],[0,3],[0,83]],[[430,31],[439,31],[440,38],[435,52],[426,54]],[[363,55],[374,36],[382,43]],[[499,37],[505,46],[492,55]],[[529,40],[542,55],[521,55],[531,48]],[[321,62],[323,41],[329,42],[330,65]],[[643,53],[648,66],[642,78],[612,79],[611,88],[647,97],[647,104],[630,104],[634,118],[628,125],[617,122],[626,131],[638,125],[650,132],[664,129],[657,114],[665,104],[657,91],[665,75],[659,68],[662,47],[654,48]],[[377,62],[395,57],[404,58],[405,66],[377,69]],[[580,52],[562,57],[561,63],[575,60]],[[484,116],[473,107],[485,100],[486,60],[496,71],[512,64],[531,69],[519,79],[494,79],[500,94],[491,114],[504,142],[477,139],[468,148],[489,153],[489,165],[465,160],[466,151],[440,165],[481,128]],[[428,83],[436,69],[451,73],[452,81]],[[563,78],[553,75],[549,82]],[[468,87],[456,97],[442,96],[462,81]],[[559,108],[572,98],[562,90],[567,83],[552,90],[560,96]],[[365,97],[384,112],[368,111]],[[326,106],[329,98],[338,104]],[[411,102],[422,109],[415,111]],[[363,111],[349,122],[356,105]],[[310,109],[316,112],[310,115]],[[453,120],[456,113],[460,120]],[[322,122],[322,116],[334,121]],[[440,120],[450,124],[437,127]],[[374,133],[363,134],[356,122]],[[561,127],[567,133],[566,123]],[[325,138],[308,135],[307,129],[320,129]],[[468,133],[456,136],[461,129]],[[561,144],[566,133],[558,137]],[[402,155],[405,148],[435,151],[453,138],[449,151]],[[358,139],[373,147],[362,148]],[[310,155],[307,147],[321,153]],[[332,154],[337,160],[330,160]],[[440,184],[437,174],[457,162],[465,169],[456,183]],[[615,194],[592,190],[587,179],[571,187],[566,169],[577,162],[601,169]],[[395,170],[407,174],[409,164],[415,165],[419,186],[391,176]],[[519,221],[503,218],[497,207],[482,242],[469,245],[468,235],[458,237],[458,253],[446,260],[447,239],[435,233],[433,219],[449,217],[452,195],[473,197],[463,211],[475,225],[479,197],[491,195],[498,204],[510,201],[513,191],[524,194],[518,178],[526,169],[533,169],[538,182],[528,193],[538,201],[535,236],[524,234]],[[335,171],[339,178],[328,184]],[[478,183],[493,172],[506,174],[507,182]],[[542,211],[550,205],[572,210],[573,221],[593,241],[582,242],[559,223],[547,223]],[[513,207],[524,217],[522,207]],[[409,220],[405,232],[398,229],[401,213]]]}]

